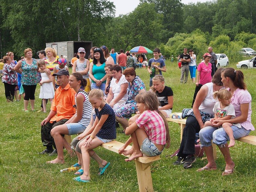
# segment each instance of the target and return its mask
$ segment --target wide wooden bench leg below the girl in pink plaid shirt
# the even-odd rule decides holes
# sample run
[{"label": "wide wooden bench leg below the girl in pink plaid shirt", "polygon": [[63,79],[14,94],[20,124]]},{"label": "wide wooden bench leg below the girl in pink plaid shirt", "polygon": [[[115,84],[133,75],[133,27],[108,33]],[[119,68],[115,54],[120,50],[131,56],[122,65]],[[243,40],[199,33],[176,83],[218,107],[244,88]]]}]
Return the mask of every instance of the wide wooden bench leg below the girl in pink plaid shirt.
[{"label": "wide wooden bench leg below the girl in pink plaid shirt", "polygon": [[152,163],[140,163],[135,161],[136,172],[138,178],[138,185],[140,192],[153,192],[152,177],[150,171],[150,164]]}]

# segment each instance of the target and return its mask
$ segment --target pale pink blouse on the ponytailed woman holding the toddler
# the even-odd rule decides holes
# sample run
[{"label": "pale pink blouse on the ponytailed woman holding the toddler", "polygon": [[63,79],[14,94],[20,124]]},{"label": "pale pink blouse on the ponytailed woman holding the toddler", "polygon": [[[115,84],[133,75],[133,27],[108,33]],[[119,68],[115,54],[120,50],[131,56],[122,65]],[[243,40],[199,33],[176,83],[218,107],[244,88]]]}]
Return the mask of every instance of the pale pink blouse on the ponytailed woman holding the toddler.
[{"label": "pale pink blouse on the ponytailed woman holding the toddler", "polygon": [[[229,88],[228,88],[228,91],[230,91]],[[237,122],[237,123],[240,123],[246,130],[254,131],[254,127],[251,123],[251,115],[252,115],[252,107],[251,107],[252,96],[251,96],[251,94],[247,90],[237,88],[236,91],[234,92],[234,94],[232,95],[231,103],[234,105],[236,117],[241,116],[240,105],[243,103],[249,103],[247,120],[245,122]]]}]

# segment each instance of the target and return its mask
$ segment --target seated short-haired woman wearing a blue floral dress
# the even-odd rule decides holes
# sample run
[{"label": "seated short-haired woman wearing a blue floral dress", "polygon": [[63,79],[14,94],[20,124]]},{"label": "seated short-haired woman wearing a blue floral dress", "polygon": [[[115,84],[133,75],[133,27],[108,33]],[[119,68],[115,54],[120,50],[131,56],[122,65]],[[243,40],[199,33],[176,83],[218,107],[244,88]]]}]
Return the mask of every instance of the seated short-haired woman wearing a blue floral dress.
[{"label": "seated short-haired woman wearing a blue floral dress", "polygon": [[122,125],[124,129],[123,132],[125,132],[126,127],[129,126],[128,119],[132,117],[133,113],[138,111],[136,106],[137,102],[135,101],[136,95],[146,91],[143,81],[139,76],[136,76],[134,68],[126,68],[124,70],[124,76],[125,79],[129,82],[127,88],[128,100],[118,108],[114,109],[116,114],[116,121]]}]

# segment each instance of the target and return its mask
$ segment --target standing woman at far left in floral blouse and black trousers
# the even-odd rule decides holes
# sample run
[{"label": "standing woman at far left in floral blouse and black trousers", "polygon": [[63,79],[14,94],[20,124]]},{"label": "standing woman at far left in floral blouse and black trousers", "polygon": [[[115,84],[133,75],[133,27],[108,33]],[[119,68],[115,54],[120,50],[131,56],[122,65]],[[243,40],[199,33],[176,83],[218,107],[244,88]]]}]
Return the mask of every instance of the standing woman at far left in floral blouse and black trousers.
[{"label": "standing woman at far left in floral blouse and black trousers", "polygon": [[4,83],[6,101],[13,101],[14,89],[17,86],[16,71],[11,64],[12,59],[9,56],[4,57],[4,68],[2,82]]}]

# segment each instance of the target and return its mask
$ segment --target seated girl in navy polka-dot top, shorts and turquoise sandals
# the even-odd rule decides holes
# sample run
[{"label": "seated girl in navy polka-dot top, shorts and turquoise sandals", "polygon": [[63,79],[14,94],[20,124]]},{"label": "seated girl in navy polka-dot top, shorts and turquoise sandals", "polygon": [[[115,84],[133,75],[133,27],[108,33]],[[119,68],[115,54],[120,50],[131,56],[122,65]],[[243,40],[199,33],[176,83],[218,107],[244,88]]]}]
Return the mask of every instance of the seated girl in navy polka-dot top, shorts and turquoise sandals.
[{"label": "seated girl in navy polka-dot top, shorts and turquoise sandals", "polygon": [[99,147],[102,143],[116,139],[115,113],[103,99],[103,92],[100,89],[92,89],[89,93],[89,100],[95,108],[96,119],[92,128],[88,130],[86,139],[79,145],[84,166],[84,173],[74,178],[79,182],[90,181],[90,157],[97,161],[100,166],[98,175],[105,172],[110,163],[101,159],[93,149]]}]

